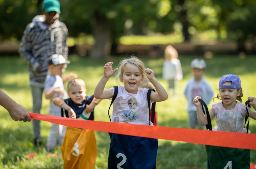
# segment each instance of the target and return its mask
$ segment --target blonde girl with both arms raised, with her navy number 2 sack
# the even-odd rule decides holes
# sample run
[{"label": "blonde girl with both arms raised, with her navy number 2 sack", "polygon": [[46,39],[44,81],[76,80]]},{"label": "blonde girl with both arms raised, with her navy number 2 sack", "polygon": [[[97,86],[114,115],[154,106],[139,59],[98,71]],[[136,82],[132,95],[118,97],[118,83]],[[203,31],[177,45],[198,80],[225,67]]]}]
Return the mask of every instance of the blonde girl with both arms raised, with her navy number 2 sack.
[{"label": "blonde girl with both arms raised, with her navy number 2 sack", "polygon": [[[98,99],[110,99],[114,96],[114,88],[104,89],[106,82],[116,71],[118,71],[116,79],[120,80],[124,86],[118,87],[116,99],[113,102],[112,122],[130,123],[141,125],[153,125],[149,121],[147,88],[147,79],[155,87],[157,93],[152,92],[150,101],[159,102],[168,98],[164,87],[156,80],[154,71],[145,69],[143,62],[132,56],[123,59],[119,63],[119,69],[112,70],[113,62],[108,62],[104,66],[104,75],[94,90],[94,97]],[[132,116],[125,116],[124,110],[129,110],[127,101],[131,98],[136,100],[136,109]],[[111,142],[109,150],[108,168],[116,168],[120,166],[119,157],[126,159],[122,162],[122,168],[155,168],[157,154],[157,139],[149,139],[143,137],[134,137],[126,135],[118,135],[111,133]],[[143,165],[143,166],[141,166]]]}]

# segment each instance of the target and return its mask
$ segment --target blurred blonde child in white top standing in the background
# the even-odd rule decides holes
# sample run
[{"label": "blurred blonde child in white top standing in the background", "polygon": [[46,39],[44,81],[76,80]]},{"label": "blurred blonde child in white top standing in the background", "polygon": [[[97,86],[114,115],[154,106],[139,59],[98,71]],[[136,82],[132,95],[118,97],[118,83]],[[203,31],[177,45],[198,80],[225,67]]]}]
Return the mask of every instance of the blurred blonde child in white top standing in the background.
[{"label": "blurred blonde child in white top standing in the background", "polygon": [[173,46],[168,45],[165,48],[164,56],[163,79],[168,82],[168,94],[172,96],[173,100],[176,100],[179,92],[179,81],[183,79],[178,52]]}]

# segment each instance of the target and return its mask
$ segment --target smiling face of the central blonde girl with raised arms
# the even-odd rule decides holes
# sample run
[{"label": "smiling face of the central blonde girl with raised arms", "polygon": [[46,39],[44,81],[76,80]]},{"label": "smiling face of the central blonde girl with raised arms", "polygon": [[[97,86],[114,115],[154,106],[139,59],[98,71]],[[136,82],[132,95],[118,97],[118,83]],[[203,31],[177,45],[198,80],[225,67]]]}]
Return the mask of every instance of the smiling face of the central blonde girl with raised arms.
[{"label": "smiling face of the central blonde girl with raised arms", "polygon": [[124,83],[125,90],[128,93],[136,94],[142,83],[142,73],[140,69],[134,64],[126,63],[121,82]]}]

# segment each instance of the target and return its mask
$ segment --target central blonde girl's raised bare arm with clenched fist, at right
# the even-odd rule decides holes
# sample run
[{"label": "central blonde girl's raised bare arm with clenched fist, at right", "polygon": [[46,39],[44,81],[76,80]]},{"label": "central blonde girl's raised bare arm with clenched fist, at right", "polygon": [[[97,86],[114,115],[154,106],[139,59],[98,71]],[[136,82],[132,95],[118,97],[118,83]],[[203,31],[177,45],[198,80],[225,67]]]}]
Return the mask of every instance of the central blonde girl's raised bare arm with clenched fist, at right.
[{"label": "central blonde girl's raised bare arm with clenched fist, at right", "polygon": [[156,93],[151,93],[150,100],[155,102],[166,100],[168,98],[167,92],[164,87],[156,80],[154,71],[147,68],[146,75],[148,80],[152,83],[157,91]]}]

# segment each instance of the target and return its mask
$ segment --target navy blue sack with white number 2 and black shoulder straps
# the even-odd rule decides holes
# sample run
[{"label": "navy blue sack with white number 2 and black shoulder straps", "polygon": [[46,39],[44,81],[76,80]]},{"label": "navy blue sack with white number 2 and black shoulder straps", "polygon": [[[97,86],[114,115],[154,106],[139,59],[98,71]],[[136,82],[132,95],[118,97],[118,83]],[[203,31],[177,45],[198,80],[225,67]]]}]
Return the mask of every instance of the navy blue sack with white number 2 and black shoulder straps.
[{"label": "navy blue sack with white number 2 and black shoulder straps", "polygon": [[[114,96],[110,107],[118,93],[118,86],[114,86]],[[153,89],[148,90],[147,98],[150,112],[150,94]],[[109,109],[110,109],[109,107]],[[152,103],[152,118],[154,123],[155,102]],[[110,115],[109,115],[110,118]],[[111,119],[110,119],[111,121]],[[156,168],[156,155],[158,148],[157,139],[128,136],[122,134],[109,133],[110,147],[108,157],[108,168],[118,169],[153,169]]]}]

